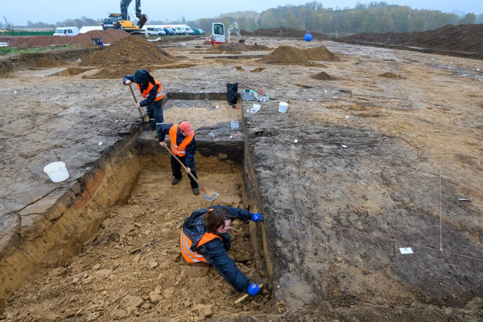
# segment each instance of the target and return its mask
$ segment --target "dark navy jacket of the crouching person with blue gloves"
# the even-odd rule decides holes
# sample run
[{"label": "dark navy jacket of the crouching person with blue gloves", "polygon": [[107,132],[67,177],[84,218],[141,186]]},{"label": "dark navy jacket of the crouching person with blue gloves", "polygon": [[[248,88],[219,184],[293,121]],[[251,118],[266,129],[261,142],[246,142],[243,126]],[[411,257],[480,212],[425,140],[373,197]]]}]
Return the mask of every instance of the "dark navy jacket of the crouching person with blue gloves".
[{"label": "dark navy jacket of the crouching person with blue gloves", "polygon": [[201,218],[208,209],[217,207],[227,209],[234,218],[238,218],[242,221],[247,221],[251,218],[251,214],[248,210],[216,205],[210,208],[193,211],[183,222],[183,233],[191,240],[192,251],[196,251],[198,254],[203,255],[206,261],[215,267],[221,277],[224,278],[226,282],[229,282],[238,292],[246,292],[250,285],[250,280],[241,272],[235,262],[229,258],[226,253],[231,246],[230,235],[227,233],[217,234],[221,239],[215,238],[202,244],[200,247],[197,247],[198,242],[206,232],[206,227]]}]

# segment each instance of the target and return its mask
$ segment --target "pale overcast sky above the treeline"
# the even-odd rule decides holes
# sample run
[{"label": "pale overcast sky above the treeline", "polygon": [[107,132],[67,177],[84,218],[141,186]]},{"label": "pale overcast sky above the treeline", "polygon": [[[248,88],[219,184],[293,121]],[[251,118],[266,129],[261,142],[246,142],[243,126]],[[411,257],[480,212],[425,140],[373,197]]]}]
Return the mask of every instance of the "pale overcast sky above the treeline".
[{"label": "pale overcast sky above the treeline", "polygon": [[[6,4],[8,2],[8,4]],[[303,4],[309,0],[239,0],[239,1],[203,1],[203,0],[141,0],[141,11],[152,20],[178,20],[183,15],[187,20],[217,17],[221,13],[265,9],[291,3]],[[324,8],[339,6],[353,8],[355,0],[320,1]],[[361,0],[362,3],[370,1]],[[387,0],[387,3],[409,5],[413,9],[437,9],[443,12],[461,10],[464,12],[483,13],[482,0]],[[87,17],[106,18],[107,12],[119,13],[120,0],[0,0],[0,19],[5,16],[15,25],[26,25],[27,20],[54,23],[65,19]],[[134,14],[135,1],[129,6],[129,13]]]}]

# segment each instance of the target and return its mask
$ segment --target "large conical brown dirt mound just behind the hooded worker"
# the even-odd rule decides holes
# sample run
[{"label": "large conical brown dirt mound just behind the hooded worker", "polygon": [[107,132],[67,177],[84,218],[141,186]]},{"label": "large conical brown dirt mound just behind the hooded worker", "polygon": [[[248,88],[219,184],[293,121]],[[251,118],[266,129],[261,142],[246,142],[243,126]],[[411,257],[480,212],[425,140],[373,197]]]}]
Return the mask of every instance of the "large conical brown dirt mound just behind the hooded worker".
[{"label": "large conical brown dirt mound just behind the hooded worker", "polygon": [[85,57],[82,66],[128,65],[135,69],[141,65],[163,65],[174,61],[171,55],[151,42],[137,36],[124,37],[104,50]]}]

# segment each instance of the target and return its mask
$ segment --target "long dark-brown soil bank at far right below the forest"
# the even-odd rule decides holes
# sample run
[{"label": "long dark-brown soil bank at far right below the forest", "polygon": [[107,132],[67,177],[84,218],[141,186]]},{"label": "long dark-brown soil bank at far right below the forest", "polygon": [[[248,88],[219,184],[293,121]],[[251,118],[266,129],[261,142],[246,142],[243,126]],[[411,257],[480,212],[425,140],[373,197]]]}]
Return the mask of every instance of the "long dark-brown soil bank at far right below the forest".
[{"label": "long dark-brown soil bank at far right below the forest", "polygon": [[483,24],[448,24],[437,30],[411,33],[360,33],[344,40],[483,54]]}]

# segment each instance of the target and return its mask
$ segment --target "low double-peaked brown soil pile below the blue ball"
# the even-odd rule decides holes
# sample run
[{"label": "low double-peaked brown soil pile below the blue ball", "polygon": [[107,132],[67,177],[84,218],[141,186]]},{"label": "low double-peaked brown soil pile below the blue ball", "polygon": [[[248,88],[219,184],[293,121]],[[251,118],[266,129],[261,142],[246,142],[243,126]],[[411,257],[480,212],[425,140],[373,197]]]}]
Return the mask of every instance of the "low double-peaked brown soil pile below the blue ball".
[{"label": "low double-peaked brown soil pile below the blue ball", "polygon": [[282,45],[259,61],[274,65],[325,67],[323,64],[311,60],[337,60],[337,58],[324,46],[310,49],[299,49]]}]

